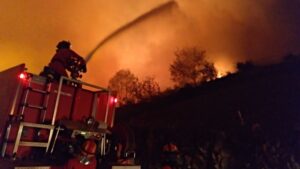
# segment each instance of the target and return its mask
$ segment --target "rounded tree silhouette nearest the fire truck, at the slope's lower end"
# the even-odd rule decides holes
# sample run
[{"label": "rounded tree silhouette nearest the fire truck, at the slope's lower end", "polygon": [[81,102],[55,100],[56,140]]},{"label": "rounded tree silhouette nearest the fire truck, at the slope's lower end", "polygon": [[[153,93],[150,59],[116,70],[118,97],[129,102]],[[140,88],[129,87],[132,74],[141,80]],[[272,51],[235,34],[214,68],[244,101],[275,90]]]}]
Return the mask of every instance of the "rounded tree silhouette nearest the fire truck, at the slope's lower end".
[{"label": "rounded tree silhouette nearest the fire truck, at the slope's lower end", "polygon": [[138,88],[138,78],[128,69],[119,70],[110,80],[108,88],[117,92],[120,105],[136,103],[136,88]]}]

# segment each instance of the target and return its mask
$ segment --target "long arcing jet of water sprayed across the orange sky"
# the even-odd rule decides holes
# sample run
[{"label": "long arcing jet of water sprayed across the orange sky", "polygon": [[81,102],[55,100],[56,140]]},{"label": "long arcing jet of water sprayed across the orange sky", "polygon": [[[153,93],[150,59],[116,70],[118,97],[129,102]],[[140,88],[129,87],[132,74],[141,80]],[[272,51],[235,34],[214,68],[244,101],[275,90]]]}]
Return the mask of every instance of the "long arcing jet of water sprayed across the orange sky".
[{"label": "long arcing jet of water sprayed across the orange sky", "polygon": [[146,19],[147,17],[159,12],[159,11],[162,11],[162,10],[165,10],[165,9],[168,9],[172,6],[177,6],[177,3],[173,0],[171,1],[168,1],[166,3],[163,3],[147,12],[145,12],[144,14],[140,15],[139,17],[131,20],[130,22],[128,22],[127,24],[121,26],[120,28],[116,29],[115,31],[113,31],[111,34],[109,34],[108,36],[106,36],[102,41],[100,41],[97,46],[86,56],[85,60],[86,62],[89,62],[89,60],[92,58],[92,56],[95,54],[95,52],[102,46],[104,45],[106,42],[108,42],[111,38],[115,37],[116,35],[118,35],[119,33],[121,33],[122,31],[130,28],[131,26],[139,23],[140,21]]}]

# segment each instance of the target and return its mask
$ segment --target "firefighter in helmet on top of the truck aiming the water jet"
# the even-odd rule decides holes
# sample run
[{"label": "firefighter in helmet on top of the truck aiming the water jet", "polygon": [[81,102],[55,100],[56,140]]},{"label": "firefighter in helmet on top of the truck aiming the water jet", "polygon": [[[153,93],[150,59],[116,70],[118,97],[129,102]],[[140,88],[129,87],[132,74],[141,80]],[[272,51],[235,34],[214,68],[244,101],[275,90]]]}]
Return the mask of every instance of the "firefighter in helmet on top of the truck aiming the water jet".
[{"label": "firefighter in helmet on top of the truck aiming the water jet", "polygon": [[69,41],[60,41],[56,45],[56,48],[56,53],[48,66],[44,68],[44,71],[41,73],[42,76],[46,76],[50,80],[58,81],[60,76],[69,77],[67,70],[70,71],[71,76],[72,73],[78,76],[78,72],[76,72],[78,70],[74,70],[74,62],[77,64],[75,67],[80,66],[80,68],[77,69],[86,72],[85,60],[71,49],[71,43]]}]

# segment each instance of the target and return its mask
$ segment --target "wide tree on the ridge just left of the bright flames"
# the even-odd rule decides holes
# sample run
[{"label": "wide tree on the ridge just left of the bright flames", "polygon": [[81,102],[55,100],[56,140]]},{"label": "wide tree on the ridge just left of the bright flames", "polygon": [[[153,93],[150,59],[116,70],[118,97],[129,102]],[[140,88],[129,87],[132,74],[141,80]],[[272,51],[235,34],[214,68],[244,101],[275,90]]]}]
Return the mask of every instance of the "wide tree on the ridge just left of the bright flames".
[{"label": "wide tree on the ridge just left of the bright flames", "polygon": [[205,60],[205,51],[196,47],[186,48],[176,51],[175,56],[170,73],[176,86],[198,85],[217,77],[213,63]]}]

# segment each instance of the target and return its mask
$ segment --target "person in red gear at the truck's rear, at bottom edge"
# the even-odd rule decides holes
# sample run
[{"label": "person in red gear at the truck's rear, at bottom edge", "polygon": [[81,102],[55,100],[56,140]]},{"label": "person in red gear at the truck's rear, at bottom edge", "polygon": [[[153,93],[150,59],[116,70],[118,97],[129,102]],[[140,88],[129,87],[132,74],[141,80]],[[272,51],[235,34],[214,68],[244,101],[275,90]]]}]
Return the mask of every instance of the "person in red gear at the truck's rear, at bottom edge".
[{"label": "person in red gear at the truck's rear, at bottom edge", "polygon": [[65,169],[96,169],[96,151],[95,140],[87,139],[82,144],[80,152],[67,162]]}]

